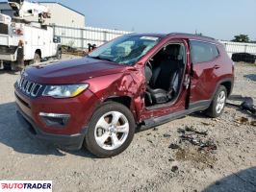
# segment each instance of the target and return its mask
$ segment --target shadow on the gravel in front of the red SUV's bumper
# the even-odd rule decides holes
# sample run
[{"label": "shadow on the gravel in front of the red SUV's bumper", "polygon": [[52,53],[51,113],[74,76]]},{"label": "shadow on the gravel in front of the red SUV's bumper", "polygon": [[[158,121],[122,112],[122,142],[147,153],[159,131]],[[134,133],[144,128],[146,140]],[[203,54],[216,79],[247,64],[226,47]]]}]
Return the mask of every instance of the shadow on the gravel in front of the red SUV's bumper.
[{"label": "shadow on the gravel in front of the red SUV's bumper", "polygon": [[74,156],[95,158],[85,149],[74,152],[60,150],[52,144],[29,137],[19,124],[14,103],[0,104],[0,114],[0,143],[13,148],[17,153],[38,156],[65,156],[67,153]]}]

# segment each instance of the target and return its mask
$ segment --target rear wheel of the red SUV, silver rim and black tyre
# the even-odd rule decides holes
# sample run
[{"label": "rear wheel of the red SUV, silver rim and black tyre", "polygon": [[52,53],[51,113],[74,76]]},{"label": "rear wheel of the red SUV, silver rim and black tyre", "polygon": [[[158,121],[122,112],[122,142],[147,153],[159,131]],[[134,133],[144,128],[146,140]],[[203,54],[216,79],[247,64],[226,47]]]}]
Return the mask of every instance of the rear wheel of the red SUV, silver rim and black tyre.
[{"label": "rear wheel of the red SUV, silver rim and black tyre", "polygon": [[220,116],[225,108],[227,99],[226,87],[220,85],[209,108],[206,109],[206,114],[210,117],[216,118]]}]

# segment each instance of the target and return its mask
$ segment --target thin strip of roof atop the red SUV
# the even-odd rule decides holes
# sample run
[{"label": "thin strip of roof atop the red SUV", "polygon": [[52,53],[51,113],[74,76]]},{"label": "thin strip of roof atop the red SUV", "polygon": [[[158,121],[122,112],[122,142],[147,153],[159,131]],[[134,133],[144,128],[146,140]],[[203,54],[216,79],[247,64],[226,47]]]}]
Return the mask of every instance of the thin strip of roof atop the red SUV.
[{"label": "thin strip of roof atop the red SUV", "polygon": [[148,33],[148,34],[131,34],[131,36],[154,36],[154,37],[160,37],[160,38],[166,38],[166,37],[173,37],[173,38],[188,38],[190,40],[200,40],[200,41],[207,41],[212,43],[218,43],[218,40],[210,37],[210,36],[201,36],[201,35],[194,35],[194,34],[186,34],[186,33],[170,33],[170,34],[154,34],[154,33]]}]

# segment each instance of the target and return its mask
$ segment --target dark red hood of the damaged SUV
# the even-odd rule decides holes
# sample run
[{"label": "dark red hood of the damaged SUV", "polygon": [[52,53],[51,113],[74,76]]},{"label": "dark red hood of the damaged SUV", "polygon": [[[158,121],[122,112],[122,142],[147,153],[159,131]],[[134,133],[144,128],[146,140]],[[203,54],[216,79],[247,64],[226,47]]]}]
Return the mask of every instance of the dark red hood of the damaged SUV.
[{"label": "dark red hood of the damaged SUV", "polygon": [[25,76],[38,84],[76,84],[94,77],[121,73],[125,66],[107,61],[82,58],[53,63],[39,63],[24,71]]}]

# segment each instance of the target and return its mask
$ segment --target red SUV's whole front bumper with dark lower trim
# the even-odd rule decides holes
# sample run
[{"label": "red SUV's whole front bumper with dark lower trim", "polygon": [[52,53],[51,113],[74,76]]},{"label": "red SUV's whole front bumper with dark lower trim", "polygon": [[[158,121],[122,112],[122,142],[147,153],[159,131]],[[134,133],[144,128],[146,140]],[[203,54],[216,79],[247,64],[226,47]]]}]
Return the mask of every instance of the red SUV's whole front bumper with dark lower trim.
[{"label": "red SUV's whole front bumper with dark lower trim", "polygon": [[[31,98],[16,85],[15,98],[18,119],[31,136],[68,150],[82,147],[90,117],[98,102],[90,90],[71,99]],[[70,118],[63,126],[49,125],[41,116],[44,113],[69,114]]]}]

